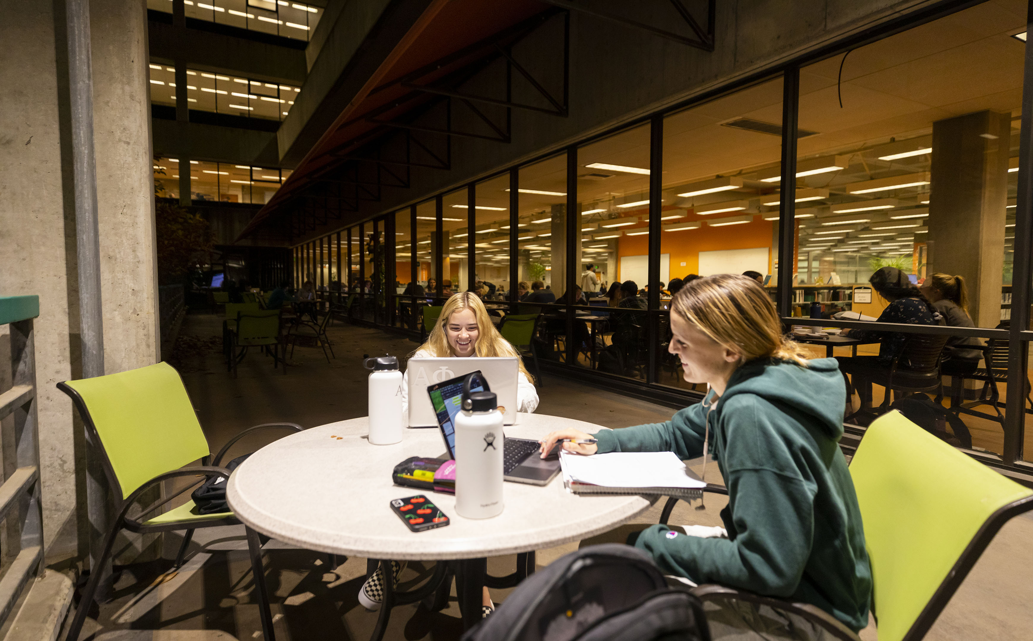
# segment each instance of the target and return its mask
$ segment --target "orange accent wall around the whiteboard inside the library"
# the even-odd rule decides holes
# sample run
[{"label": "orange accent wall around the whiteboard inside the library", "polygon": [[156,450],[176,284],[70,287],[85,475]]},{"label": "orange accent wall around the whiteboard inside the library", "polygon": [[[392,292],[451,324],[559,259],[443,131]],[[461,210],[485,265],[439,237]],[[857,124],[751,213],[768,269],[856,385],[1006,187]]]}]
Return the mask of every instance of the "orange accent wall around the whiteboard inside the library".
[{"label": "orange accent wall around the whiteboard inside the library", "polygon": [[[686,220],[707,220],[706,216],[690,214]],[[712,217],[713,218],[713,217]],[[768,274],[772,274],[772,232],[777,221],[763,220],[754,215],[752,223],[729,225],[727,227],[709,227],[703,224],[699,229],[684,229],[682,231],[662,231],[660,253],[670,254],[670,278],[683,278],[689,274],[699,273],[699,252],[720,250],[768,248]],[[647,225],[640,225],[645,228]],[[635,229],[635,227],[625,228]],[[621,279],[622,256],[641,256],[649,253],[649,235],[621,236],[617,243],[617,274]],[[682,266],[682,263],[685,266]]]}]

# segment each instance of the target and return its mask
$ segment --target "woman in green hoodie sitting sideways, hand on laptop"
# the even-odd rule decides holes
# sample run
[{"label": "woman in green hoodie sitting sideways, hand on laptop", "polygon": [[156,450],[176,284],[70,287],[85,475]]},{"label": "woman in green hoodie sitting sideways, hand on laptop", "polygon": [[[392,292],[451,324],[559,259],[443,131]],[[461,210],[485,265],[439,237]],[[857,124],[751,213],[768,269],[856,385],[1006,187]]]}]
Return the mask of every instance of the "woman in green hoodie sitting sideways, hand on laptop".
[{"label": "woman in green hoodie sitting sideways, hand on laptop", "polygon": [[728,488],[724,528],[711,533],[719,536],[645,524],[630,536],[627,526],[614,533],[667,574],[809,603],[862,630],[872,573],[838,445],[846,390],[836,361],[807,360],[783,336],[760,284],[743,276],[686,285],[672,300],[670,323],[669,351],[687,382],[709,385],[703,402],[665,423],[554,431],[542,452],[560,439],[593,437],[596,444],[563,448],[586,455],[672,451],[689,459],[709,446]]}]

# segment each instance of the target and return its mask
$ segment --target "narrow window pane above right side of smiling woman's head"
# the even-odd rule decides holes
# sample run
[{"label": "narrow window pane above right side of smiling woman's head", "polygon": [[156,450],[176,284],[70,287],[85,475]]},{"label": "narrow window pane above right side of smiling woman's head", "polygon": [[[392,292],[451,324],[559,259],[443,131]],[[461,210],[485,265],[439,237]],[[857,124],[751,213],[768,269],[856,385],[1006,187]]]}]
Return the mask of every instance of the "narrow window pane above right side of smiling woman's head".
[{"label": "narrow window pane above right side of smiling woman's head", "polygon": [[476,278],[509,291],[509,174],[476,185]]}]

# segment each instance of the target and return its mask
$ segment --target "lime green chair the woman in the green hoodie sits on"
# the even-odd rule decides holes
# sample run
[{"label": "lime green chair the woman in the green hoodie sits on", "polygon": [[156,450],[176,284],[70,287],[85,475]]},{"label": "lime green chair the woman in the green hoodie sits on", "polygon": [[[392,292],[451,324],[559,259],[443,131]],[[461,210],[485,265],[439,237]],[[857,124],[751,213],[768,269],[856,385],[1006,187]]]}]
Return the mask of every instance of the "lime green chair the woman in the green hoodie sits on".
[{"label": "lime green chair the woman in the green hoodie sits on", "polygon": [[[850,461],[850,476],[865,523],[879,641],[925,637],[1001,526],[1033,510],[1033,490],[963,454],[896,410],[865,431]],[[727,493],[713,485],[706,491]],[[660,522],[667,522],[676,502],[668,500]],[[703,601],[746,603],[765,620],[785,621],[793,634],[787,638],[859,641],[810,604],[722,585],[700,585],[692,591]],[[720,622],[716,626],[712,623],[711,633],[720,638]],[[765,632],[783,638],[780,631]]]}]

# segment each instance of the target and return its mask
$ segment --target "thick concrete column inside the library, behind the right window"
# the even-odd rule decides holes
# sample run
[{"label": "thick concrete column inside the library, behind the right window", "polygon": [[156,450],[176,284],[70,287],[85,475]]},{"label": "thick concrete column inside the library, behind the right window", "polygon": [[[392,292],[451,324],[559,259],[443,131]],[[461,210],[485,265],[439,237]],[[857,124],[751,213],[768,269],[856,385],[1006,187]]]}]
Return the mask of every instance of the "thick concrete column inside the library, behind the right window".
[{"label": "thick concrete column inside the library, behind the right window", "polygon": [[965,279],[979,327],[1000,322],[1010,121],[988,110],[933,123],[927,273]]}]

